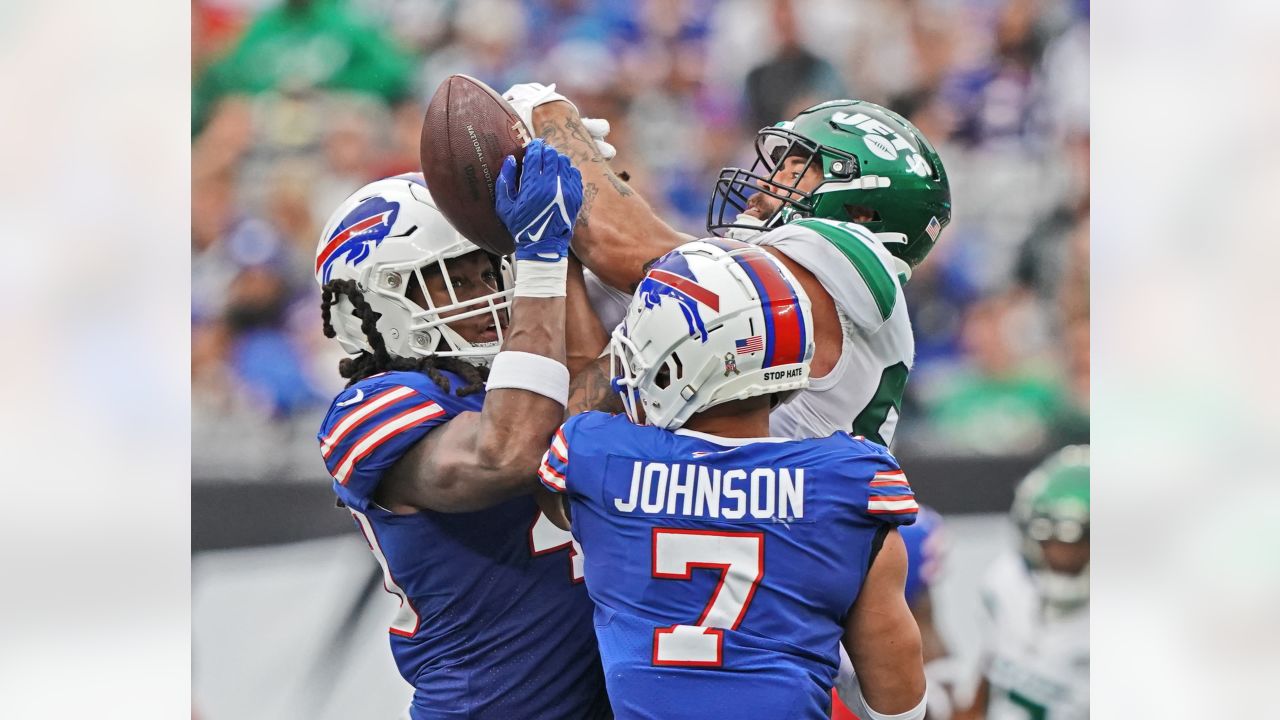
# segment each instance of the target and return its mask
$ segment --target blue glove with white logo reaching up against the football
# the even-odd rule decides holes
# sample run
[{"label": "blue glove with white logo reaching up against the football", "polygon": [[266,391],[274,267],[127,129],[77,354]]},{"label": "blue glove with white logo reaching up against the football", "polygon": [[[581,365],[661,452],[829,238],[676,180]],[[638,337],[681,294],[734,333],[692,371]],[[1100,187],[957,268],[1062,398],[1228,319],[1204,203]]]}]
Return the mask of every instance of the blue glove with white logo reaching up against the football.
[{"label": "blue glove with white logo reaching up against the football", "polygon": [[573,222],[582,208],[582,173],[540,138],[525,146],[525,167],[516,182],[511,155],[498,173],[497,210],[516,238],[516,260],[559,263],[568,258]]}]

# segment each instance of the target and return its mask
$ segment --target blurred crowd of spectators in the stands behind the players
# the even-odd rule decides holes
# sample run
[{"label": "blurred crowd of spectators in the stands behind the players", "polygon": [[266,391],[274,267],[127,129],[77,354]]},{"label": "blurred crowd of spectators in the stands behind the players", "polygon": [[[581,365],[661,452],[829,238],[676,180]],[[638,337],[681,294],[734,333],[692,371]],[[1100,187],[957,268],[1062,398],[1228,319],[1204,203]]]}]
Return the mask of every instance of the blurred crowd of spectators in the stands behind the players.
[{"label": "blurred crowd of spectators in the stands behind the players", "polygon": [[760,127],[833,97],[897,110],[938,147],[955,213],[906,290],[918,356],[895,450],[1088,441],[1088,0],[195,0],[192,20],[197,477],[319,469],[342,387],[320,227],[417,169],[452,73],[556,82],[692,234]]}]

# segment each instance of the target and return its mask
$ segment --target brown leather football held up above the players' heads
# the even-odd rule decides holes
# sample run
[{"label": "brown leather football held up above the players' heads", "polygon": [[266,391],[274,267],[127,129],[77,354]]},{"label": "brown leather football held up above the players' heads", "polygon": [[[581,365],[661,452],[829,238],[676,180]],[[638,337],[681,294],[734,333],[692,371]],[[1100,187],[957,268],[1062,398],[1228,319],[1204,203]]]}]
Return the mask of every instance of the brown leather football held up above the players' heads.
[{"label": "brown leather football held up above the players' heads", "polygon": [[500,95],[463,74],[440,83],[422,120],[419,156],[436,208],[463,237],[498,255],[516,241],[494,210],[494,183],[507,155],[524,158],[529,138]]}]

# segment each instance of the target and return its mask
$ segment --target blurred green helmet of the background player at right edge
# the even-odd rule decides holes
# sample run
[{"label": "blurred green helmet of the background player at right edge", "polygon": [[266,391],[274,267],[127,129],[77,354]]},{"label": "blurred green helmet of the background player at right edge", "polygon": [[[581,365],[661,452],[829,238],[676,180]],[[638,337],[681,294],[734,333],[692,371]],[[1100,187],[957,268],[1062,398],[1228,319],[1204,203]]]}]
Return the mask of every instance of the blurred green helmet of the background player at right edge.
[{"label": "blurred green helmet of the background player at right edge", "polygon": [[1041,597],[1057,607],[1073,607],[1089,600],[1089,565],[1076,574],[1052,570],[1044,562],[1041,543],[1089,539],[1089,446],[1071,445],[1041,462],[1018,486],[1014,495],[1023,560],[1030,569]]}]

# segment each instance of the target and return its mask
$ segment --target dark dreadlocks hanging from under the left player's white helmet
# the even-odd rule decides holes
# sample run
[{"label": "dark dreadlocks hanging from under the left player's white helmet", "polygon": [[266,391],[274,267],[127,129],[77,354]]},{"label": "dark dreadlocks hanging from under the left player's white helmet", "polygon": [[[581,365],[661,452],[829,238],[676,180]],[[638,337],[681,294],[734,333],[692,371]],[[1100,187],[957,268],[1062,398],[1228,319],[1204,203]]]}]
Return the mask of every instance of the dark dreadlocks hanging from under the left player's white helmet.
[{"label": "dark dreadlocks hanging from under the left player's white helmet", "polygon": [[387,352],[387,341],[378,332],[378,319],[381,315],[365,300],[365,295],[360,292],[360,286],[356,284],[356,281],[329,281],[321,288],[320,316],[324,320],[325,337],[332,338],[338,334],[330,322],[330,307],[340,301],[342,296],[347,296],[347,300],[355,306],[355,315],[360,318],[360,329],[369,338],[369,346],[374,348],[372,352],[362,351],[355,357],[343,357],[338,363],[338,373],[343,378],[347,378],[347,387],[378,373],[413,370],[426,373],[440,389],[449,392],[449,378],[440,373],[440,370],[448,370],[460,375],[467,383],[458,388],[456,395],[460,397],[484,389],[484,383],[489,378],[488,368],[480,369],[457,357],[398,357]]}]

